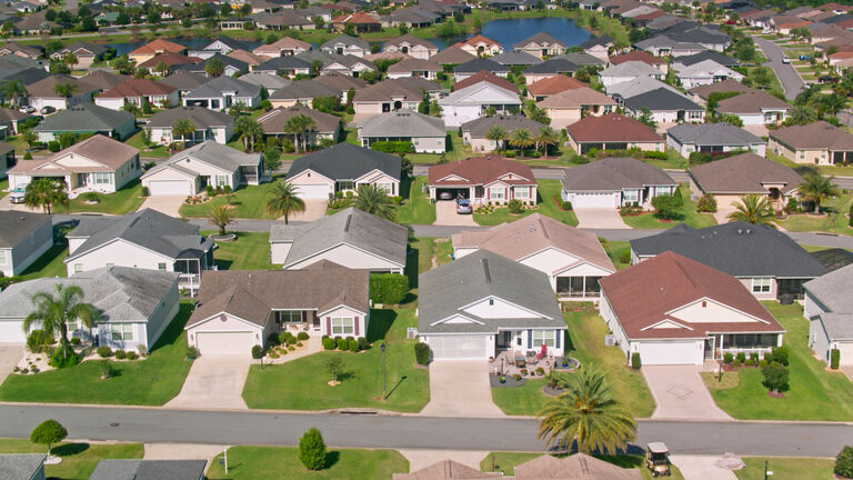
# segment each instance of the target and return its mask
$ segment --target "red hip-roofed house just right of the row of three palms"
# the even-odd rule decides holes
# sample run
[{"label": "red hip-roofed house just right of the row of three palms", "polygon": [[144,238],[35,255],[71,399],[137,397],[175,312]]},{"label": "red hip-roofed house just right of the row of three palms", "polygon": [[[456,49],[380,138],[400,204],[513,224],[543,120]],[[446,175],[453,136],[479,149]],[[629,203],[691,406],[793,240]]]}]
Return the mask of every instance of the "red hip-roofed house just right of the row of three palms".
[{"label": "red hip-roofed house just right of the row of three palms", "polygon": [[568,126],[569,147],[572,151],[586,154],[590,150],[664,151],[665,143],[654,130],[639,121],[619,113],[601,117],[584,117]]}]

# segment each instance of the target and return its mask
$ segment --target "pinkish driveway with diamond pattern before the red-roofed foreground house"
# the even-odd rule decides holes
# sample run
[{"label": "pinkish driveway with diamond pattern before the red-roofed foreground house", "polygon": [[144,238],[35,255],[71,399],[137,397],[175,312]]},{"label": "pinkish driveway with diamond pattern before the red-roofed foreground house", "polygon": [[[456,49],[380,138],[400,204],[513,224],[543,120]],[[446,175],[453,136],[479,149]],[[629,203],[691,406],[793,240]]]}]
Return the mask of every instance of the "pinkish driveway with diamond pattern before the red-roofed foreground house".
[{"label": "pinkish driveway with diamond pattern before the red-roofed foreground house", "polygon": [[731,420],[720,410],[696,366],[643,366],[643,377],[658,408],[653,419]]}]

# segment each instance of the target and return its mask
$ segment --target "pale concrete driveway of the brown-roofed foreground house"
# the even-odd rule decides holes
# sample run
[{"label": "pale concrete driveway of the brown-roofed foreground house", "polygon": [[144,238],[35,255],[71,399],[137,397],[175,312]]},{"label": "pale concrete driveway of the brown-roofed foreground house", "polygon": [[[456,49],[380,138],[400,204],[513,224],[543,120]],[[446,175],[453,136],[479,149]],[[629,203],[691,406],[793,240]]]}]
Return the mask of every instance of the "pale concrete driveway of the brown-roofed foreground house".
[{"label": "pale concrete driveway of the brown-roofed foreground house", "polygon": [[251,361],[243,356],[199,357],[192,362],[181,392],[165,407],[193,410],[245,409],[242,393]]}]

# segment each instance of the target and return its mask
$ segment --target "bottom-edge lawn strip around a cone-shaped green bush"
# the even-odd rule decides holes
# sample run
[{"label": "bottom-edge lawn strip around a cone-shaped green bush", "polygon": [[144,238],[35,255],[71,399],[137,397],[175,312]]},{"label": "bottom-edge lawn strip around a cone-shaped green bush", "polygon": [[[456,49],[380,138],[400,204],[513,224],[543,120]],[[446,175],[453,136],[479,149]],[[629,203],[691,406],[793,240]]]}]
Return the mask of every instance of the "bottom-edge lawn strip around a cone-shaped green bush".
[{"label": "bottom-edge lawn strip around a cone-shaped green bush", "polygon": [[307,470],[299,449],[288,447],[232,447],[228,449],[228,474],[218,456],[208,468],[210,480],[230,479],[391,479],[409,471],[409,461],[397,450],[330,450],[327,469]]}]

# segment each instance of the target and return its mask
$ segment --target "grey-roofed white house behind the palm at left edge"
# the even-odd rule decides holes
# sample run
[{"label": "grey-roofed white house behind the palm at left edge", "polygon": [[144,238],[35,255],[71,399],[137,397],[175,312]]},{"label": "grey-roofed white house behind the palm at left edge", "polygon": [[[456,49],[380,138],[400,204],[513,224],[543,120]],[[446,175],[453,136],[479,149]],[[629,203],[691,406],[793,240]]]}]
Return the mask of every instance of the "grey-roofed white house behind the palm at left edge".
[{"label": "grey-roofed white house behind the palm at left edge", "polygon": [[53,293],[56,286],[62,284],[79,287],[83,301],[100,313],[91,329],[79,320],[70,322],[72,337],[94,338],[98,344],[114,349],[136,350],[142,346],[150,350],[178,314],[179,277],[173,271],[110,266],[68,278],[12,283],[0,292],[0,341],[24,342],[23,319],[32,312],[32,296]]}]

